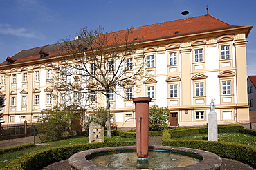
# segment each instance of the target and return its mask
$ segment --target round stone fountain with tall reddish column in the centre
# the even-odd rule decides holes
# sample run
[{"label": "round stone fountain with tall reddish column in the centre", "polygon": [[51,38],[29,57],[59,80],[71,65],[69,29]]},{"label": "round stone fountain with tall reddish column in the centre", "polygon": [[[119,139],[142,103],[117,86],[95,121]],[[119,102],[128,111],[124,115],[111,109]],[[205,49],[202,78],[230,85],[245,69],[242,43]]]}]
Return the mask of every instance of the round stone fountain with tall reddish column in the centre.
[{"label": "round stone fountain with tall reddish column in the centre", "polygon": [[[125,146],[125,147],[105,147],[98,149],[90,149],[86,151],[81,151],[79,153],[75,153],[68,160],[69,164],[73,169],[219,169],[222,164],[222,160],[219,156],[214,153],[210,153],[207,151],[201,151],[197,149],[188,149],[183,147],[170,147],[170,146],[149,146],[149,102],[151,98],[141,97],[134,98],[135,103],[135,112],[136,112],[136,146]],[[134,151],[137,154],[137,164],[134,167],[127,167],[126,162],[131,162],[134,159]],[[148,162],[155,162],[155,160],[150,160],[149,157],[152,154],[151,151],[158,151],[160,155],[163,155],[161,158],[156,158],[156,160],[161,160],[167,164],[167,166],[161,167],[160,165],[156,165],[157,167],[140,167],[138,165],[148,164]],[[168,152],[167,154],[174,153],[179,155],[186,154],[187,157],[196,157],[198,161],[188,160],[189,164],[180,163],[176,166],[168,166],[168,164],[172,164],[171,160],[176,160],[176,158],[167,158],[163,152]],[[110,154],[114,155],[110,155]],[[98,156],[106,154],[108,159],[117,160],[122,156],[118,155],[119,153],[131,153],[132,158],[127,158],[125,156],[125,160],[119,160],[116,167],[111,164],[111,167],[107,167],[107,164],[96,164],[95,162],[91,162],[89,159],[96,157],[98,160],[102,160]],[[103,158],[104,159],[104,158]],[[182,158],[184,159],[184,158]],[[185,158],[186,159],[186,158]],[[103,160],[109,161],[110,160]],[[121,163],[120,163],[121,161]],[[169,162],[169,163],[168,163]],[[163,163],[160,163],[163,164]],[[112,167],[113,166],[113,167]],[[159,166],[159,167],[158,167]]]}]

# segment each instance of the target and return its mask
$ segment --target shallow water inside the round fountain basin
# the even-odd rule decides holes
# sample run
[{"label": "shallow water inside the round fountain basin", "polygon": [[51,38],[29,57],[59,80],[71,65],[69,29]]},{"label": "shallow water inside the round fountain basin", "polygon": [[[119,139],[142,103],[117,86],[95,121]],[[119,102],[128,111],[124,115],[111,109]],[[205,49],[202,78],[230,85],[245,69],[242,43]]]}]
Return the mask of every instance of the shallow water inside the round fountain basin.
[{"label": "shallow water inside the round fountain basin", "polygon": [[134,150],[100,153],[95,156],[90,156],[87,160],[106,167],[164,169],[196,164],[201,161],[201,157],[180,151],[149,150],[147,160],[141,161],[136,157],[136,151]]}]

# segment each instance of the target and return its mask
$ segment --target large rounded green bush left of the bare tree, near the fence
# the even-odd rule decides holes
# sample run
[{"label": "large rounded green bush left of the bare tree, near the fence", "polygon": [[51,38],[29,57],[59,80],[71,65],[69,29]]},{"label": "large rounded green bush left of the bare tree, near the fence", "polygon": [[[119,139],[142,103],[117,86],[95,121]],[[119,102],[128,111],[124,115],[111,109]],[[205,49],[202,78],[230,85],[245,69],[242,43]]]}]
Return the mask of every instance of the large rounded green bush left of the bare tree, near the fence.
[{"label": "large rounded green bush left of the bare tree, near the fence", "polygon": [[42,120],[36,123],[36,129],[42,142],[60,140],[67,136],[74,136],[82,129],[82,113],[75,107],[60,109],[54,107],[41,112]]}]

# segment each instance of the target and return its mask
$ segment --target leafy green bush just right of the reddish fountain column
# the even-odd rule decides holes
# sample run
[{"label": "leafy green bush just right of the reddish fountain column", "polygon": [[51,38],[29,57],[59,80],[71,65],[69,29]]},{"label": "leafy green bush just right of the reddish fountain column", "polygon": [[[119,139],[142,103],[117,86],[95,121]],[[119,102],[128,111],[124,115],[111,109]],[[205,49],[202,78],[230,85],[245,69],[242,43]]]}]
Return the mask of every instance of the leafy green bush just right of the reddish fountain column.
[{"label": "leafy green bush just right of the reddish fountain column", "polygon": [[161,131],[169,127],[170,113],[167,107],[149,107],[149,131]]}]

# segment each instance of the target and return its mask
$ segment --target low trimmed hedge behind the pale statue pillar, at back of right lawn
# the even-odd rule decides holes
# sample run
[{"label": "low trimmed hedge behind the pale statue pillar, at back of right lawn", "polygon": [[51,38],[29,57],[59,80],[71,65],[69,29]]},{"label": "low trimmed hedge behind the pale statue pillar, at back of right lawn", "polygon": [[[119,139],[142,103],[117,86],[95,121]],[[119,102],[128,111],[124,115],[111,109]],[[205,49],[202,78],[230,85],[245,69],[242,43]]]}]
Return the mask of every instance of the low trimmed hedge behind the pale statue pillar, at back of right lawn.
[{"label": "low trimmed hedge behind the pale statue pillar, at back of right lawn", "polygon": [[[219,133],[226,133],[226,132],[239,132],[244,127],[237,124],[232,125],[219,125],[218,132]],[[192,136],[196,134],[207,134],[208,127],[179,127],[176,129],[168,130],[171,138],[181,138],[183,136]]]}]

